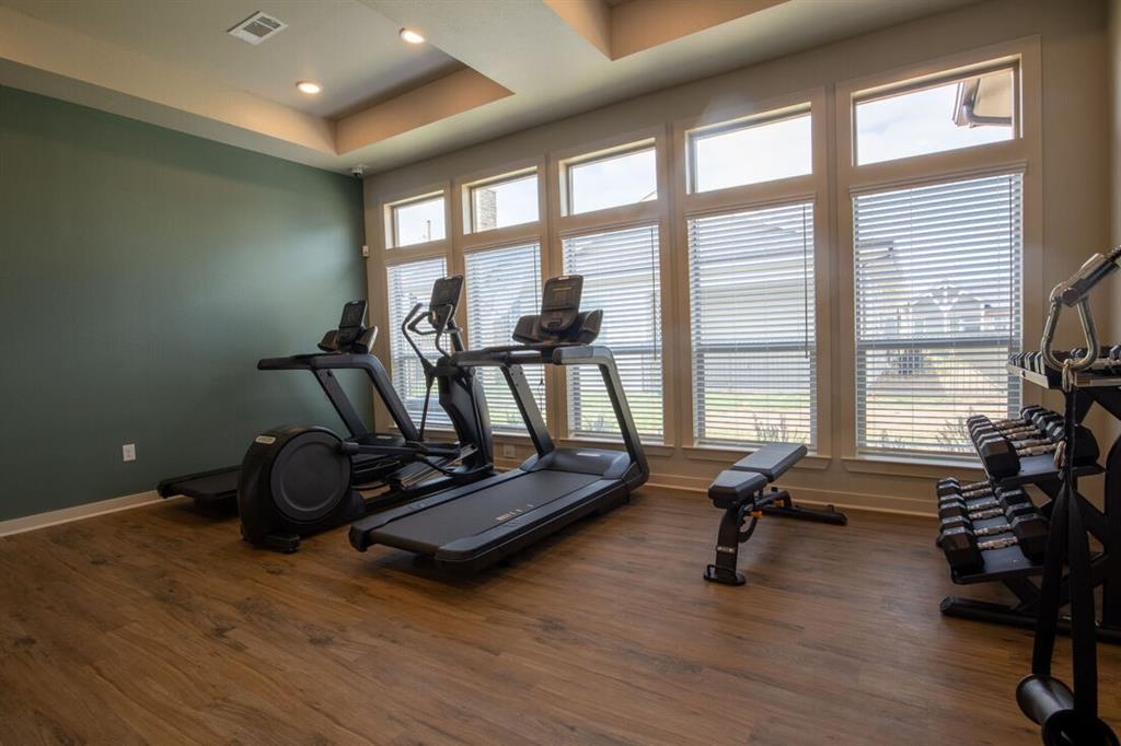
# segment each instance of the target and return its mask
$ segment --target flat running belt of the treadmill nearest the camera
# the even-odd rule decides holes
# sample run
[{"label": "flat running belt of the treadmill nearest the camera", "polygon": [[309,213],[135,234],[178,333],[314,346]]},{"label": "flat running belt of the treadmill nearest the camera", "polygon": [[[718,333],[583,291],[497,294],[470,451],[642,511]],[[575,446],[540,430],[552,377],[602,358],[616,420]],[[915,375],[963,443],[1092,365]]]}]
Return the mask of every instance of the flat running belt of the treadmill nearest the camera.
[{"label": "flat running belt of the treadmill nearest the camera", "polygon": [[374,531],[373,535],[377,541],[389,537],[404,539],[417,548],[442,547],[482,533],[602,478],[596,474],[573,472],[528,472],[460,500],[406,515]]}]

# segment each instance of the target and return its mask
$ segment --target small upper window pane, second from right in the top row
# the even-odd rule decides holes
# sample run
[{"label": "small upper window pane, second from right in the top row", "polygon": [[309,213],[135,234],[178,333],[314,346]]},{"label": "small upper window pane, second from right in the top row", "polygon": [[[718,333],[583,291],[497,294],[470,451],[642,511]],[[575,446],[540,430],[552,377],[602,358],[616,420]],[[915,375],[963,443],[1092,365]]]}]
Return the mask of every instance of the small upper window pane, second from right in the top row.
[{"label": "small upper window pane, second from right in the top row", "polygon": [[693,192],[711,192],[813,172],[809,113],[731,122],[688,134]]}]

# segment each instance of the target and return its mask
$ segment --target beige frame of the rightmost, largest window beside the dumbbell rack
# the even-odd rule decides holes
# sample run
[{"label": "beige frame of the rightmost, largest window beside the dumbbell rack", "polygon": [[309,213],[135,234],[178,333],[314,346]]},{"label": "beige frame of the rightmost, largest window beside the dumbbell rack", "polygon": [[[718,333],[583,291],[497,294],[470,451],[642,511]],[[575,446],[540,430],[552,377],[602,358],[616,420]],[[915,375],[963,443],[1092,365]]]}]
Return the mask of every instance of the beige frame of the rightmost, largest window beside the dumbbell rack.
[{"label": "beige frame of the rightmost, largest window beside the dumbbell rack", "polygon": [[[1012,140],[971,146],[858,166],[855,160],[855,102],[877,97],[887,91],[906,92],[927,87],[939,80],[952,80],[973,72],[992,72],[1016,65],[1016,136]],[[1038,37],[1018,39],[967,53],[932,59],[877,75],[846,81],[836,88],[836,216],[840,244],[837,278],[840,283],[836,317],[840,336],[851,341],[840,351],[834,385],[843,392],[841,411],[841,460],[854,473],[916,476],[916,465],[938,469],[945,466],[970,467],[975,459],[952,456],[923,457],[861,454],[858,446],[855,277],[853,267],[854,226],[852,198],[868,192],[882,192],[941,181],[966,179],[1009,171],[1023,172],[1022,223],[1022,334],[1037,339],[1043,332],[1046,297],[1043,281],[1043,97],[1040,43]],[[1041,391],[1025,386],[1022,401],[1038,403]]]}]

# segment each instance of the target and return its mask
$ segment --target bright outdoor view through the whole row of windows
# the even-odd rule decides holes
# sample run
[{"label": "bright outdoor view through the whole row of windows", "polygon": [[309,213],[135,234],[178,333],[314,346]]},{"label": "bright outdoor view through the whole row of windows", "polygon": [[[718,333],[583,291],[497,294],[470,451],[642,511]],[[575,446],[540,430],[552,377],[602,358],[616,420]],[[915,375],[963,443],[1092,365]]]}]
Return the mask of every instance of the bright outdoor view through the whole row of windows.
[{"label": "bright outdoor view through the whole row of windows", "polygon": [[[852,262],[853,307],[833,311],[853,318],[849,354],[856,381],[849,395],[861,454],[966,455],[963,417],[1015,413],[1020,402],[1004,361],[1022,334],[1022,168],[936,177],[938,165],[930,160],[946,150],[1018,137],[1018,71],[1003,63],[929,80],[901,81],[897,90],[880,86],[867,96],[858,92],[846,103],[854,174],[921,157],[909,177],[864,183],[846,197],[852,234],[844,240],[851,254],[842,255]],[[719,190],[712,204],[726,206],[679,213],[686,239],[680,248],[663,248],[671,241],[665,221],[673,206],[658,189],[660,140],[558,161],[557,184],[532,169],[464,187],[463,234],[528,225],[529,234],[538,235],[465,252],[472,344],[507,343],[517,317],[536,311],[540,268],[548,264],[543,246],[557,251],[553,265],[585,278],[584,308],[604,310],[600,342],[615,355],[643,438],[683,438],[666,431],[666,412],[678,392],[665,388],[661,338],[664,296],[673,280],[663,277],[663,251],[683,251],[693,413],[683,430],[691,428],[697,444],[795,441],[814,448],[821,398],[817,285],[832,280],[815,268],[823,204],[807,197],[797,178],[815,179],[808,184],[825,178],[813,166],[818,115],[807,103],[686,131],[686,194]],[[771,189],[766,201],[752,202],[757,185],[778,181],[794,185],[789,197],[775,197],[781,189]],[[559,189],[558,220],[578,216],[577,230],[541,220],[539,188]],[[654,212],[631,209],[626,220],[619,217],[624,206],[647,204]],[[445,236],[443,196],[390,212],[395,246]],[[443,260],[424,260],[389,268],[391,323],[427,292],[443,267]],[[399,353],[395,345],[393,380],[414,404],[416,366]],[[487,394],[495,428],[524,431],[504,381],[492,373]],[[568,436],[617,436],[597,372],[573,369],[566,376]],[[545,376],[531,383],[544,410]]]}]

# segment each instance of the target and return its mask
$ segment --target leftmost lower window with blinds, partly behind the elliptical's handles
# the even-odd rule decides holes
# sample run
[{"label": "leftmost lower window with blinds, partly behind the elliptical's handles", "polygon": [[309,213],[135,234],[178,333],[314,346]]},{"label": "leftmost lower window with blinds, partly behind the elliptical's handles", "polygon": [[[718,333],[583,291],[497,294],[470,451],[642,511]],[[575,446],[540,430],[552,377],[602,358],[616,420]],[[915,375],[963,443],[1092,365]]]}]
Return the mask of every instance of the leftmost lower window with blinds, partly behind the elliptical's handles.
[{"label": "leftmost lower window with blinds, partly behind the elliptical's handles", "polygon": [[[425,259],[386,268],[386,287],[389,291],[389,356],[392,363],[393,388],[405,402],[409,417],[420,427],[424,410],[424,367],[413,347],[401,334],[401,321],[417,304],[428,308],[432,286],[446,272],[443,258]],[[430,327],[429,327],[430,328]],[[438,356],[435,337],[416,337],[417,345],[432,360]],[[445,347],[446,348],[446,347]],[[428,425],[451,427],[451,420],[439,405],[438,392],[433,385],[428,403]]]}]

